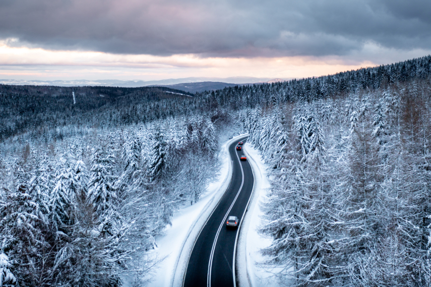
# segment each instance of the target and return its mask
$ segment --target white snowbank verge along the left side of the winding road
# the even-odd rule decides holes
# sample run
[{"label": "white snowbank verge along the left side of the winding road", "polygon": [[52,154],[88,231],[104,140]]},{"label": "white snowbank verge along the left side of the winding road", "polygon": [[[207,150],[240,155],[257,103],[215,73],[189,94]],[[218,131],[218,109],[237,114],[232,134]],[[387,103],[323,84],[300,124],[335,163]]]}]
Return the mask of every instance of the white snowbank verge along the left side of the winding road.
[{"label": "white snowbank verge along the left side of the winding road", "polygon": [[154,280],[150,282],[150,286],[182,285],[193,245],[230,183],[232,162],[228,147],[243,136],[244,134],[235,136],[223,143],[219,155],[221,161],[219,179],[208,186],[207,191],[197,203],[175,212],[171,221],[172,226],[167,226],[165,235],[157,238],[158,248],[154,250],[154,253],[165,259],[157,266]]}]

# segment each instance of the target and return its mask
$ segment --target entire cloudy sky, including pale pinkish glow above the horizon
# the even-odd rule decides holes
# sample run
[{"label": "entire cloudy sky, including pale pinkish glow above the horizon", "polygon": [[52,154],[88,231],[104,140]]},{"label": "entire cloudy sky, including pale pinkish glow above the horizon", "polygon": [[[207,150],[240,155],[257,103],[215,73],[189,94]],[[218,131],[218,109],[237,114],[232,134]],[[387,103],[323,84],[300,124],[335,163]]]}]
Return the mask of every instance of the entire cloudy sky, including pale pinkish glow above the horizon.
[{"label": "entire cloudy sky, including pale pinkish glow above the horizon", "polygon": [[431,52],[429,0],[1,0],[0,78],[302,78]]}]

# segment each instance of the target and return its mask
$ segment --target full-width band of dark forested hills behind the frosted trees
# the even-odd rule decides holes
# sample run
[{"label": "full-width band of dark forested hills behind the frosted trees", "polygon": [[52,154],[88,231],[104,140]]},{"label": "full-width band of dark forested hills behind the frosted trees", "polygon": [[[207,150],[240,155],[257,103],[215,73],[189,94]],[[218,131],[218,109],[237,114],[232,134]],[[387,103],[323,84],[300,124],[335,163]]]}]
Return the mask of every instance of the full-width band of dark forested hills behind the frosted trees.
[{"label": "full-width band of dark forested hills behind the frosted trees", "polygon": [[[39,126],[64,126],[75,122],[90,126],[118,126],[186,115],[195,110],[240,110],[296,101],[310,102],[342,97],[358,89],[376,90],[394,83],[426,79],[430,74],[431,56],[428,55],[319,78],[235,86],[196,95],[166,87],[0,85],[0,141],[28,129],[34,131]],[[73,102],[72,92],[75,92],[76,104]]]}]

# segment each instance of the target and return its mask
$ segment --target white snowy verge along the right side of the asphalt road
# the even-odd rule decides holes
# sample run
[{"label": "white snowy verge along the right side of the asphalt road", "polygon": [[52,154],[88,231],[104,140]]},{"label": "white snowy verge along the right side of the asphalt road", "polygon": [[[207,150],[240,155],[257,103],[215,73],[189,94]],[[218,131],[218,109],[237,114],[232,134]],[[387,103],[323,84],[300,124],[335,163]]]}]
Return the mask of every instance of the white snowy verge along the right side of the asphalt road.
[{"label": "white snowy verge along the right side of the asphalt road", "polygon": [[236,252],[237,280],[240,287],[250,286],[279,286],[273,274],[256,265],[264,258],[259,250],[271,244],[271,239],[262,237],[257,230],[261,224],[263,212],[259,208],[260,202],[266,196],[270,187],[266,165],[259,152],[246,142],[243,151],[253,169],[255,184],[248,211],[241,224]]}]

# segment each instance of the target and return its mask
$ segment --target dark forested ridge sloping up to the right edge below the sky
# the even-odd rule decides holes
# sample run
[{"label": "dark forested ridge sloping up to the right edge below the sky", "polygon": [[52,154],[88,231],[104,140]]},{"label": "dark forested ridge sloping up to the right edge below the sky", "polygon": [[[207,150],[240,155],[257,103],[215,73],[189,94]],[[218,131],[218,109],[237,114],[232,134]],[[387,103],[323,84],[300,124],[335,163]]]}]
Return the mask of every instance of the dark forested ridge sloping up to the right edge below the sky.
[{"label": "dark forested ridge sloping up to the right edge below the sky", "polygon": [[377,67],[367,67],[318,78],[291,80],[253,86],[237,86],[198,93],[232,109],[276,106],[344,96],[358,89],[376,90],[394,83],[426,79],[431,75],[431,55]]}]

